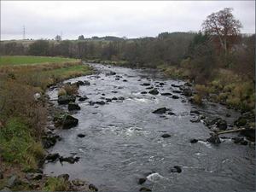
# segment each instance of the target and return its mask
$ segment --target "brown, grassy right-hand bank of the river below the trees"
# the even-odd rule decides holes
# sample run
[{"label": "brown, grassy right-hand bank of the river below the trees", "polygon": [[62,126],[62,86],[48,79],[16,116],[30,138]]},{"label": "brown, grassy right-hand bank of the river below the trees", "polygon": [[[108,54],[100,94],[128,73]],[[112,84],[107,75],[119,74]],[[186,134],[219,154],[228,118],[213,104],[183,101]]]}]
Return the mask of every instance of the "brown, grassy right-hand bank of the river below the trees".
[{"label": "brown, grassy right-hand bank of the river below the trees", "polygon": [[[100,59],[88,60],[91,63],[101,63],[103,65],[113,65],[119,67],[139,67],[132,65],[128,61],[104,61]],[[179,67],[159,65],[157,69],[165,73],[166,78],[183,79],[193,82],[195,89],[195,102],[202,104],[204,99],[209,102],[220,103],[227,108],[233,108],[241,113],[252,112],[255,115],[255,83],[253,79],[241,77],[229,69],[219,68],[215,70],[211,80],[200,84],[192,79],[192,69],[188,67],[188,62],[184,60]]]}]

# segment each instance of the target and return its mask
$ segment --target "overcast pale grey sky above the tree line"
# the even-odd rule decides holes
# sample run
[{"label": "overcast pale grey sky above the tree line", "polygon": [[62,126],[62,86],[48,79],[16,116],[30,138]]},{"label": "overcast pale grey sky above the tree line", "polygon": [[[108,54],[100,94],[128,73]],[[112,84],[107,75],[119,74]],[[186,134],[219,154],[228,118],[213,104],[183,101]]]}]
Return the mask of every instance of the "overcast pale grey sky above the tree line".
[{"label": "overcast pale grey sky above the tree line", "polygon": [[255,32],[254,1],[1,1],[1,38],[155,37],[201,29],[207,15],[233,8],[241,32]]}]

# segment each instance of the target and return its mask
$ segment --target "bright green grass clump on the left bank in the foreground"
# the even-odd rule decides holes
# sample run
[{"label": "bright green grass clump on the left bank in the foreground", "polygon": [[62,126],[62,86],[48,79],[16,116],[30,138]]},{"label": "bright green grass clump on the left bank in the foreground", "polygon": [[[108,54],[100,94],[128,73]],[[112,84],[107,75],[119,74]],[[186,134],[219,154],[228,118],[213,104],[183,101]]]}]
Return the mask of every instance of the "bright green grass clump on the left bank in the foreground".
[{"label": "bright green grass clump on the left bank in the foreground", "polygon": [[41,143],[31,136],[28,126],[20,119],[10,118],[0,130],[1,156],[5,162],[18,164],[24,170],[37,168],[44,156]]}]

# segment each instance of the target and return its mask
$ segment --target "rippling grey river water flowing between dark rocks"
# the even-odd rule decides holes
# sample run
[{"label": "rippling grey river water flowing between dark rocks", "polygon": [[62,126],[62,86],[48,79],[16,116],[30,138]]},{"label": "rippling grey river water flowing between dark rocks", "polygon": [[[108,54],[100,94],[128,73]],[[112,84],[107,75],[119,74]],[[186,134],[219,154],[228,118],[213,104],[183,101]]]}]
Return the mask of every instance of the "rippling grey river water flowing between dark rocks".
[{"label": "rippling grey river water flowing between dark rocks", "polygon": [[[94,183],[102,191],[138,191],[142,186],[153,191],[253,191],[255,190],[255,151],[252,146],[222,140],[219,145],[206,142],[191,144],[191,138],[206,140],[209,129],[202,123],[191,123],[190,110],[197,109],[206,116],[226,119],[232,124],[239,113],[221,105],[208,103],[197,107],[180,94],[153,96],[141,94],[150,83],[160,92],[178,90],[172,84],[183,81],[164,79],[152,70],[108,67],[91,64],[100,73],[69,79],[66,82],[89,80],[89,86],[80,86],[79,95],[88,96],[78,102],[81,110],[73,116],[79,125],[56,133],[62,140],[49,149],[50,153],[70,156],[76,153],[80,160],[75,164],[59,161],[44,166],[44,173],[59,175],[68,173]],[[115,75],[106,76],[113,71]],[[127,81],[123,81],[126,79]],[[57,89],[49,90],[51,99],[57,97]],[[105,105],[91,106],[89,101],[105,101],[102,97],[125,97]],[[184,100],[182,102],[182,100]],[[57,106],[57,103],[55,103]],[[152,113],[157,108],[171,108],[176,115]],[[61,107],[66,108],[67,107]],[[230,113],[231,117],[225,117]],[[77,137],[79,133],[86,136]],[[163,138],[168,133],[171,137]],[[170,172],[173,166],[181,166],[182,172]],[[154,174],[148,174],[154,172]],[[143,185],[139,177],[148,179]]]}]

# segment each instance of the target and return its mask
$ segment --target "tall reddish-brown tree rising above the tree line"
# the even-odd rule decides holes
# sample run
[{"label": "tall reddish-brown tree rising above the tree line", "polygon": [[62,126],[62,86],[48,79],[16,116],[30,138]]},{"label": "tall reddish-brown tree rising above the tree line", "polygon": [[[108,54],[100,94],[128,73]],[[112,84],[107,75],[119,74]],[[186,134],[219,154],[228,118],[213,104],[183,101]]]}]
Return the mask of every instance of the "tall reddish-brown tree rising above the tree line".
[{"label": "tall reddish-brown tree rising above the tree line", "polygon": [[[231,8],[225,8],[207,16],[207,20],[202,23],[202,29],[206,34],[217,36],[219,44],[227,55],[231,39],[240,33],[241,22],[234,18]],[[230,41],[229,41],[230,40]]]}]

